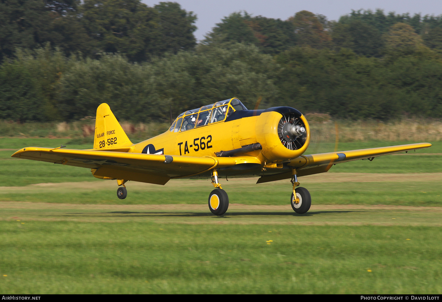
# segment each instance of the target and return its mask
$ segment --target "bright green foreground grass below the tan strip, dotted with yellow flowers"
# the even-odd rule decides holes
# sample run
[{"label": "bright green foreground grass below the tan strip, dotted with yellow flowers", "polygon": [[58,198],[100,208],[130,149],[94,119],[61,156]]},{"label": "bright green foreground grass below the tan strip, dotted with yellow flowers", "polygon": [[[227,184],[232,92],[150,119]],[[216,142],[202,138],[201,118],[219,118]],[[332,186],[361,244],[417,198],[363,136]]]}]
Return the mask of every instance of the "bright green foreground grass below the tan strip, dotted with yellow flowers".
[{"label": "bright green foreground grass below the tan strip, dotted with yellow flowers", "polygon": [[53,221],[0,227],[0,291],[8,294],[442,292],[440,227]]}]

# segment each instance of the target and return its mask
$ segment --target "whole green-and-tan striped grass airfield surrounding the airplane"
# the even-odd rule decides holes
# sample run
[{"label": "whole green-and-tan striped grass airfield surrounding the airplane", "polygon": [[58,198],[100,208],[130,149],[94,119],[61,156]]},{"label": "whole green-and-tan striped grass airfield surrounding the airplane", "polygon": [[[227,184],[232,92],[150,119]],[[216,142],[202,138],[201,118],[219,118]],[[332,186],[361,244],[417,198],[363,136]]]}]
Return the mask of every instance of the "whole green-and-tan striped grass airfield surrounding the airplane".
[{"label": "whole green-and-tan striped grass airfield surrounding the airplane", "polygon": [[122,201],[116,181],[88,169],[10,158],[61,143],[0,138],[2,293],[442,293],[440,142],[300,177],[305,215],[290,207],[288,180],[224,179],[221,217],[208,210],[207,180],[128,182]]}]

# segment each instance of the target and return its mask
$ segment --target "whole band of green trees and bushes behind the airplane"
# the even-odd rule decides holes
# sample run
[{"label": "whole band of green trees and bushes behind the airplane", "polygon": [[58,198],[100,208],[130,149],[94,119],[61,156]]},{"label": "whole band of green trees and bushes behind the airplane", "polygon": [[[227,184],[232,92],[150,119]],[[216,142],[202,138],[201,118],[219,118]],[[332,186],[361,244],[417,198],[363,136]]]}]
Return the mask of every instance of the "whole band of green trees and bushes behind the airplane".
[{"label": "whole band of green trees and bushes behind the airplane", "polygon": [[195,20],[171,2],[0,0],[0,118],[78,120],[107,102],[119,119],[164,121],[170,106],[231,97],[350,119],[442,117],[441,16],[236,12],[199,43]]}]

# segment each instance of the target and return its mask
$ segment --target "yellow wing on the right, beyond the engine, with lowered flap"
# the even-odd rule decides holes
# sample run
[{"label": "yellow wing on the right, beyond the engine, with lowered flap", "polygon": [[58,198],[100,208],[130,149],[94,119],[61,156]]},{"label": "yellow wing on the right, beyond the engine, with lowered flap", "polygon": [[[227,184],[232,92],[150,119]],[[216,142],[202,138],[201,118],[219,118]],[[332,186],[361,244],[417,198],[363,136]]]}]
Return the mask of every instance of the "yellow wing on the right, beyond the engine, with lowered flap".
[{"label": "yellow wing on the right, beyond the engine, with lowered flap", "polygon": [[[416,149],[431,147],[431,143],[411,143],[407,145],[369,148],[350,151],[338,151],[329,153],[319,153],[312,155],[301,155],[296,159],[290,160],[289,166],[296,168],[297,176],[306,176],[311,174],[323,173],[330,170],[331,166],[341,162],[351,162],[357,159],[373,159],[377,156],[400,153]],[[276,181],[292,177],[291,171],[263,176],[257,183]]]}]

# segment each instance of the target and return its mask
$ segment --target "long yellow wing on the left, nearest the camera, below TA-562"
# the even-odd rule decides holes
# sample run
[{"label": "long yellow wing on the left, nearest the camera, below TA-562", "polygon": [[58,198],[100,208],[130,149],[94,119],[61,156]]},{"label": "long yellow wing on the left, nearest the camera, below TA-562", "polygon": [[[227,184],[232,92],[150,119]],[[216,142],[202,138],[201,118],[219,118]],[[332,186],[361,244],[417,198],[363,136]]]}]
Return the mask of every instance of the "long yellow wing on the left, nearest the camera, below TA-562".
[{"label": "long yellow wing on the left, nearest the camera, below TA-562", "polygon": [[250,156],[216,158],[41,147],[26,147],[11,157],[90,168],[92,174],[98,178],[125,179],[158,185],[164,185],[171,178],[201,174],[215,167],[260,163]]}]

